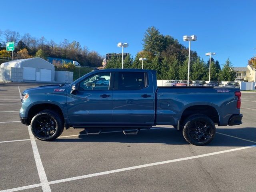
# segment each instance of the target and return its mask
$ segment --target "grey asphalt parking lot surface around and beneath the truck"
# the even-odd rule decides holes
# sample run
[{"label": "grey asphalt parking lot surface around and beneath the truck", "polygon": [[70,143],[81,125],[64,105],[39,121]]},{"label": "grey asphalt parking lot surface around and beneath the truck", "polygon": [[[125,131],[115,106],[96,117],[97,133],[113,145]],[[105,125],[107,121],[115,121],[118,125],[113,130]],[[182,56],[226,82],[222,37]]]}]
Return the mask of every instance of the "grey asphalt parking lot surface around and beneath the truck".
[{"label": "grey asphalt parking lot surface around and beneath the truck", "polygon": [[207,146],[168,126],[137,135],[70,128],[43,142],[19,120],[20,92],[34,86],[0,83],[0,192],[256,189],[256,93],[242,93],[243,124],[217,126]]}]

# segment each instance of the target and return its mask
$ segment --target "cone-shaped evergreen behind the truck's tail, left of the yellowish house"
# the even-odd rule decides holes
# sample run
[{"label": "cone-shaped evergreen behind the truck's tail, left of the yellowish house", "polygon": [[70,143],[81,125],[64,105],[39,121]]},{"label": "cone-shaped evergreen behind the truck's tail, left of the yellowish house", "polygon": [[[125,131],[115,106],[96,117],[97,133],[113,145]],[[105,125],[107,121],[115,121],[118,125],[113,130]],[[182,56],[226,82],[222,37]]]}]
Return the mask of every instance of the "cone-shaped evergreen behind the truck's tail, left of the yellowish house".
[{"label": "cone-shaped evergreen behind the truck's tail, left of the yellowish house", "polygon": [[236,72],[234,72],[233,66],[228,58],[220,72],[220,80],[221,81],[234,81],[235,78],[236,78]]}]

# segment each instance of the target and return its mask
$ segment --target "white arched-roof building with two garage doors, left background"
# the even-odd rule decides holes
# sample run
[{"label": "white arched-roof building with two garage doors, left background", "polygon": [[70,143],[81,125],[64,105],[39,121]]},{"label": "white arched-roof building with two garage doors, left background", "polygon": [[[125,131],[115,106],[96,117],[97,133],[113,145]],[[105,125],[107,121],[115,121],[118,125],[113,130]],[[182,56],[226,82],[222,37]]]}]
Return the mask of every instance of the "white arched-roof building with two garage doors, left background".
[{"label": "white arched-roof building with two garage doors, left background", "polygon": [[[36,57],[12,60],[2,63],[1,68],[20,68],[22,81],[54,81],[54,66],[46,60]],[[13,70],[12,70],[13,71]]]}]

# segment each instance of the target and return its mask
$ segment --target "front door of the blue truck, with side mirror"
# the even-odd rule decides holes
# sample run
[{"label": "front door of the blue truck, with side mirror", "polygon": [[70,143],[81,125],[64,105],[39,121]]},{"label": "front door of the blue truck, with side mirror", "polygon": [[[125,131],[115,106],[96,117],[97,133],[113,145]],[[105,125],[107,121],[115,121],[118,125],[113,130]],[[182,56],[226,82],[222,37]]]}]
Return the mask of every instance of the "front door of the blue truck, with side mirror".
[{"label": "front door of the blue truck, with side mirror", "polygon": [[75,94],[67,94],[70,122],[112,122],[112,76],[111,72],[98,72],[79,82]]}]

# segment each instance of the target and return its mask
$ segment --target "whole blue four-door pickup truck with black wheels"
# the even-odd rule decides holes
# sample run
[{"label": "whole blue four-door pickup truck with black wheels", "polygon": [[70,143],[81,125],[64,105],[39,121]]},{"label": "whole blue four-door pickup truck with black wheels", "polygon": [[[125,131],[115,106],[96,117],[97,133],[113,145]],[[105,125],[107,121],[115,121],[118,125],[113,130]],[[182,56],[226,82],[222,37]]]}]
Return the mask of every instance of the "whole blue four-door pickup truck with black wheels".
[{"label": "whole blue four-door pickup truck with black wheels", "polygon": [[151,128],[172,125],[187,142],[206,145],[218,126],[242,124],[237,88],[158,87],[156,72],[107,69],[72,84],[40,86],[22,94],[20,120],[40,140],[73,128]]}]

